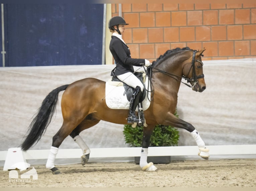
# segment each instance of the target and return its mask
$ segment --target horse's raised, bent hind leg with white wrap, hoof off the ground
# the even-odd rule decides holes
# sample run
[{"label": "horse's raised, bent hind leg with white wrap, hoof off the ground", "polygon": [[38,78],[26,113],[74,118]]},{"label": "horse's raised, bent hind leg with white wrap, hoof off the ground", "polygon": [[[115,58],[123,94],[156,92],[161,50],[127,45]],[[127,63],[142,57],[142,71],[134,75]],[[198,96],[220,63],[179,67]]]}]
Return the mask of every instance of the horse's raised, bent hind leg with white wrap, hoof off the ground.
[{"label": "horse's raised, bent hind leg with white wrap, hoof off the ground", "polygon": [[100,120],[84,120],[82,121],[71,133],[70,136],[73,138],[73,140],[79,145],[79,147],[83,151],[83,155],[81,156],[81,164],[84,166],[90,157],[90,148],[87,146],[85,141],[82,139],[82,137],[79,135],[80,132],[82,132],[84,129],[88,129],[97,123],[99,123]]}]

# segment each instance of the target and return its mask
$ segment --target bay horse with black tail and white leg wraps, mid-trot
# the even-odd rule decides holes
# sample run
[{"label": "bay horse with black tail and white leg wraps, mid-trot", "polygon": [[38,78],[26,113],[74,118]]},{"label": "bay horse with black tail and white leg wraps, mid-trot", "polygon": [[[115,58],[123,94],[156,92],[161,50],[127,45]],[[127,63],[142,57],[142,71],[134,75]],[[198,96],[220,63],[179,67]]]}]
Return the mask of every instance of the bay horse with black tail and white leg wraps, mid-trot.
[{"label": "bay horse with black tail and white leg wraps, mid-trot", "polygon": [[[209,158],[209,149],[202,140],[196,128],[176,117],[174,112],[177,105],[177,94],[182,79],[193,91],[203,92],[206,84],[203,74],[201,56],[205,49],[193,50],[189,47],[167,50],[152,65],[146,68],[151,83],[150,106],[144,111],[146,124],[143,125],[143,140],[140,157],[140,167],[143,171],[155,171],[157,167],[152,162],[147,162],[150,136],[157,124],[171,125],[182,128],[191,133],[198,145],[198,155],[204,159]],[[83,150],[81,163],[85,165],[90,157],[90,148],[79,135],[100,120],[117,124],[127,124],[127,109],[110,109],[106,105],[106,82],[96,78],[85,78],[69,85],[60,86],[52,90],[42,101],[37,115],[28,127],[25,140],[21,143],[23,151],[36,144],[43,136],[55,111],[58,94],[64,91],[61,97],[61,111],[63,123],[57,133],[52,137],[46,168],[53,174],[60,173],[54,166],[58,147],[70,135]]]}]

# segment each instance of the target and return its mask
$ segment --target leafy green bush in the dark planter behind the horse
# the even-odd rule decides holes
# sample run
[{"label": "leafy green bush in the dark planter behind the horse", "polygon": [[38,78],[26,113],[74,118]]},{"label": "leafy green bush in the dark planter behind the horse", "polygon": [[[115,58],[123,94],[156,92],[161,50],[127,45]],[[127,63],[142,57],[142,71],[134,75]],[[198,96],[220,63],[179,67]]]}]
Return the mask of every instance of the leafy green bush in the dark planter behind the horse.
[{"label": "leafy green bush in the dark planter behind the horse", "polygon": [[[177,115],[175,112],[174,115]],[[131,125],[124,125],[123,134],[125,143],[131,147],[141,147],[143,137],[143,126],[136,126],[133,128]],[[179,140],[179,131],[167,125],[156,125],[151,138],[149,146],[177,146]]]}]

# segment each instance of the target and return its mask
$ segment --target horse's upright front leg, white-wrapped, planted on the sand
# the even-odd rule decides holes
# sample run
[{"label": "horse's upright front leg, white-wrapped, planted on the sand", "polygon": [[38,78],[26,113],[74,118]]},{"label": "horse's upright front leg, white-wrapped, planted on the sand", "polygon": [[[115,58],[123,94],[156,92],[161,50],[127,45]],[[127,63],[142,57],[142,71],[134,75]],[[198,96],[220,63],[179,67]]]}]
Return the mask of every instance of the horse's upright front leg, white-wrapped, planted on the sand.
[{"label": "horse's upright front leg, white-wrapped, planted on the sand", "polygon": [[153,165],[152,162],[147,162],[148,147],[150,144],[150,137],[154,126],[148,125],[143,127],[143,139],[142,139],[142,149],[140,155],[140,167],[143,171],[155,171],[157,168]]}]

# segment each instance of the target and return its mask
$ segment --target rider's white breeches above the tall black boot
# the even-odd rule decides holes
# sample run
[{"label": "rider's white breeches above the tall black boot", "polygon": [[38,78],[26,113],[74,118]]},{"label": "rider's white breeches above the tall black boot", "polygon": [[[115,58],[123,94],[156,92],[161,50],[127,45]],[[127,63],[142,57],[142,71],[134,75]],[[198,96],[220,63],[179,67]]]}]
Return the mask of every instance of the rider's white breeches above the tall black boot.
[{"label": "rider's white breeches above the tall black boot", "polygon": [[140,90],[143,91],[144,90],[144,86],[143,84],[140,82],[140,80],[131,72],[127,72],[125,74],[121,74],[116,76],[119,80],[121,80],[122,82],[124,82],[125,84],[136,88],[136,86],[140,87]]}]

